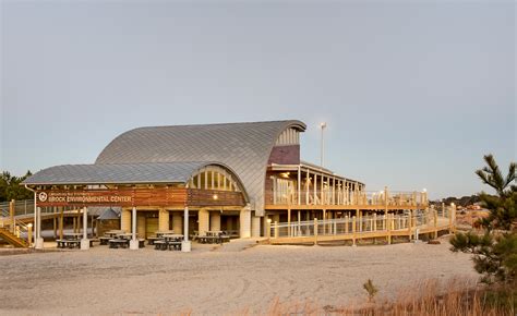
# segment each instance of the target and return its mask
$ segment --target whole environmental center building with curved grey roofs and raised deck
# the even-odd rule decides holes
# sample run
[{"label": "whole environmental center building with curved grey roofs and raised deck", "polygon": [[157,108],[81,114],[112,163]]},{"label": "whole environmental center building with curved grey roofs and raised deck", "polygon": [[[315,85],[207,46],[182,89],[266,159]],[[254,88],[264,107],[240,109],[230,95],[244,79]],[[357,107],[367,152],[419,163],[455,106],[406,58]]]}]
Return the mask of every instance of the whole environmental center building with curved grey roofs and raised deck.
[{"label": "whole environmental center building with curved grey roofs and raised deck", "polygon": [[426,204],[424,192],[366,193],[360,181],[302,161],[305,127],[297,120],[139,127],[116,137],[95,163],[50,167],[24,184],[40,208],[121,207],[121,230],[140,236],[158,230],[261,236],[270,222]]}]

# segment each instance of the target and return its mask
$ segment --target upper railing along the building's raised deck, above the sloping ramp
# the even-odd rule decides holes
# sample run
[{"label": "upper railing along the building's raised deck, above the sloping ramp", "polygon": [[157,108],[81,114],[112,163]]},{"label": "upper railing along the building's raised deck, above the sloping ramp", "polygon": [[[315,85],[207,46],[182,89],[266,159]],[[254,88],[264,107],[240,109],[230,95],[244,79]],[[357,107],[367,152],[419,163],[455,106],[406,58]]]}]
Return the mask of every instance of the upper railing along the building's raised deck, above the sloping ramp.
[{"label": "upper railing along the building's raised deck, above the sloping ramp", "polygon": [[385,191],[276,191],[266,194],[269,205],[359,205],[359,206],[426,206],[426,192]]}]

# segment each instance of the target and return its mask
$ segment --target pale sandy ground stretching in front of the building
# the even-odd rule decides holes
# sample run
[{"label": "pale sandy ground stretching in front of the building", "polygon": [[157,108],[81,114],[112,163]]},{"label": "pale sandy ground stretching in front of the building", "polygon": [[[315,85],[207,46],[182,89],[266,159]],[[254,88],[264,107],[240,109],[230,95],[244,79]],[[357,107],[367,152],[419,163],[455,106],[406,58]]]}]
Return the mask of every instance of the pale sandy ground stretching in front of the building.
[{"label": "pale sandy ground stretching in front of the building", "polygon": [[265,313],[275,299],[344,306],[423,279],[476,279],[470,257],[441,245],[269,246],[192,253],[109,250],[0,256],[0,314]]}]

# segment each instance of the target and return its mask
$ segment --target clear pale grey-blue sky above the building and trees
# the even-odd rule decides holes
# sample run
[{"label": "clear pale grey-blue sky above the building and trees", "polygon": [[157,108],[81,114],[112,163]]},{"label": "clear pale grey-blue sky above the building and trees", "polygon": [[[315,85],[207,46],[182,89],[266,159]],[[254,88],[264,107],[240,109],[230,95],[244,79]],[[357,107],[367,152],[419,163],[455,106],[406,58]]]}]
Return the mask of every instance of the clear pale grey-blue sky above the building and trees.
[{"label": "clear pale grey-blue sky above the building and trees", "polygon": [[5,1],[0,170],[147,125],[297,119],[302,159],[431,198],[516,161],[514,1]]}]

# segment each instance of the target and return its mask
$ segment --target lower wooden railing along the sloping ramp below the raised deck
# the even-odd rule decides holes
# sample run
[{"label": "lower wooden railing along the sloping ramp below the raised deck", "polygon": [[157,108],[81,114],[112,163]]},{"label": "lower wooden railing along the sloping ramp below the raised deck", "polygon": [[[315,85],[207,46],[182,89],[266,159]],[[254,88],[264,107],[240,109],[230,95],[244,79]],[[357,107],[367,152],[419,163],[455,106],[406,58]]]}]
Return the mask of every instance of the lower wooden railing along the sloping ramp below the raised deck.
[{"label": "lower wooden railing along the sloping ramp below the raised deck", "polygon": [[409,211],[398,215],[373,215],[324,220],[273,222],[268,229],[270,239],[332,236],[346,234],[368,234],[375,232],[413,231],[417,229],[450,227],[454,223],[452,208]]}]

